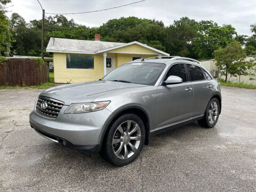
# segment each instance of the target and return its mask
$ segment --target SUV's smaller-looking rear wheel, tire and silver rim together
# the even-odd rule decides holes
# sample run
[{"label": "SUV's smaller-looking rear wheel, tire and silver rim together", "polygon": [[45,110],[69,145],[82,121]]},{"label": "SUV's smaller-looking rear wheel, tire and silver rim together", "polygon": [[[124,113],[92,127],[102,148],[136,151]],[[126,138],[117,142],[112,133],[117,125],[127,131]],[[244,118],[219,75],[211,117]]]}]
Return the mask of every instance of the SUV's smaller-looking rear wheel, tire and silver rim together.
[{"label": "SUV's smaller-looking rear wheel, tire and silver rim together", "polygon": [[[215,108],[217,106],[217,109]],[[212,128],[216,125],[220,114],[220,103],[217,98],[212,98],[206,108],[204,118],[198,124],[205,128]]]}]

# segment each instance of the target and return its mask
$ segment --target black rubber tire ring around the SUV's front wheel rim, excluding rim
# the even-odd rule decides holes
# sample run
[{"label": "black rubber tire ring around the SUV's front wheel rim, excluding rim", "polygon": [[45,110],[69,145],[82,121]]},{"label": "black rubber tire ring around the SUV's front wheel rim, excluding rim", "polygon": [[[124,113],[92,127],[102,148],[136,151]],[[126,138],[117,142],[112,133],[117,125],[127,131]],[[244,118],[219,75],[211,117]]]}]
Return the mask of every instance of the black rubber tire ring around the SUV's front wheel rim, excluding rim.
[{"label": "black rubber tire ring around the SUV's front wheel rim, excluding rim", "polygon": [[[128,120],[134,121],[134,122],[138,123],[138,125],[140,126],[141,140],[140,140],[140,145],[139,145],[138,149],[135,151],[135,153],[131,157],[129,157],[127,159],[121,159],[121,158],[118,158],[114,154],[112,140],[113,140],[113,136],[115,134],[117,127],[120,124],[122,124],[123,122],[128,121]],[[105,145],[105,146],[102,148],[104,150],[104,151],[102,151],[102,153],[105,156],[105,159],[107,159],[107,161],[109,161],[110,163],[112,163],[116,166],[123,166],[123,165],[127,165],[127,164],[131,163],[140,154],[140,151],[145,142],[145,135],[146,135],[145,134],[145,126],[139,116],[134,115],[134,114],[125,114],[125,115],[119,117],[118,119],[116,119],[116,121],[110,127],[109,132],[106,135],[106,137],[107,137],[106,142],[103,143],[103,145]]]}]

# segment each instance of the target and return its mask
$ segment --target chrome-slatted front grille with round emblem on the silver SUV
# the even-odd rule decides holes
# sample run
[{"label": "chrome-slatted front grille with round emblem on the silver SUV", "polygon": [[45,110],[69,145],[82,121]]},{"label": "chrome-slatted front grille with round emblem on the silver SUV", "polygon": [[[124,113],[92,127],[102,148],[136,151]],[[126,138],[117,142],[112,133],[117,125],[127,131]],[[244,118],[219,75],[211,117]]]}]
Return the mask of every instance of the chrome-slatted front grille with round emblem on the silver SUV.
[{"label": "chrome-slatted front grille with round emblem on the silver SUV", "polygon": [[[47,104],[45,105],[45,109],[42,108],[42,103],[44,103],[44,105],[45,103]],[[36,111],[37,113],[43,116],[50,117],[50,118],[57,118],[63,105],[64,105],[64,102],[62,101],[39,96],[36,103]]]}]

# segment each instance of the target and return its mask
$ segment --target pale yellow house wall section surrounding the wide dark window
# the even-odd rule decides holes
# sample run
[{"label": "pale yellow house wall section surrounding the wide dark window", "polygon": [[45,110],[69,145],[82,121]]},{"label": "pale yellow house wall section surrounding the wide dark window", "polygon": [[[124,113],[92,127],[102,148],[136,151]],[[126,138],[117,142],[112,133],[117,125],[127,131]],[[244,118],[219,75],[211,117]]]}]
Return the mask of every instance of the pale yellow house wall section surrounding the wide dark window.
[{"label": "pale yellow house wall section surrounding the wide dark window", "polygon": [[67,69],[66,53],[53,53],[53,63],[56,83],[89,82],[103,77],[103,54],[94,55],[94,69]]}]

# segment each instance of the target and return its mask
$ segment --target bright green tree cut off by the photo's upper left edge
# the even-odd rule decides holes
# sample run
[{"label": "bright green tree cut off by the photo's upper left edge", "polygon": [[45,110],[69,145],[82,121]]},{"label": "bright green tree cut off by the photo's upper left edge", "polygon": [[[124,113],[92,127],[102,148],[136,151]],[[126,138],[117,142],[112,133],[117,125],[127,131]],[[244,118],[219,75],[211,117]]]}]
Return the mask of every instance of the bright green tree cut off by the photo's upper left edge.
[{"label": "bright green tree cut off by the photo's upper left edge", "polygon": [[0,0],[0,55],[4,51],[10,51],[11,36],[9,32],[9,20],[7,19],[5,12],[5,5],[11,3],[11,0]]}]

